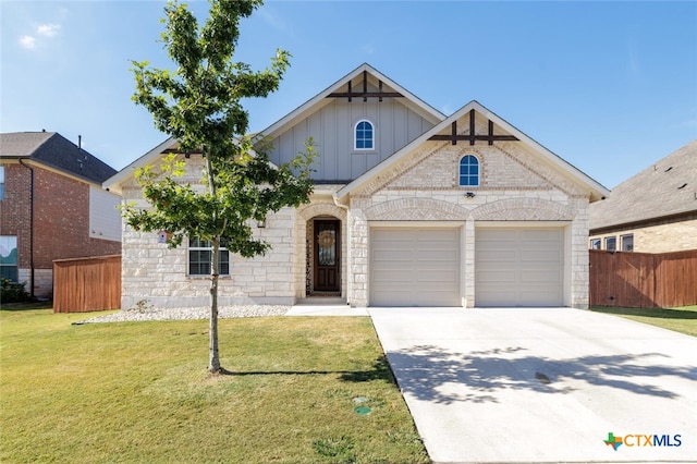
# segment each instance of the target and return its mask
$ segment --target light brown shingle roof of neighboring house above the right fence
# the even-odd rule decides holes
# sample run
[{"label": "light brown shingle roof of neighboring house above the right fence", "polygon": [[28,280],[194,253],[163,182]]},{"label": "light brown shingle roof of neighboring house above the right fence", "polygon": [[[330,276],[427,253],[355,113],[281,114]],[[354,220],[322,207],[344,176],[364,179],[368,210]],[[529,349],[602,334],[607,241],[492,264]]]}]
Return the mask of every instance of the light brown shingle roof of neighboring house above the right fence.
[{"label": "light brown shingle roof of neighboring house above the right fence", "polygon": [[697,139],[617,185],[590,207],[590,232],[697,211]]}]

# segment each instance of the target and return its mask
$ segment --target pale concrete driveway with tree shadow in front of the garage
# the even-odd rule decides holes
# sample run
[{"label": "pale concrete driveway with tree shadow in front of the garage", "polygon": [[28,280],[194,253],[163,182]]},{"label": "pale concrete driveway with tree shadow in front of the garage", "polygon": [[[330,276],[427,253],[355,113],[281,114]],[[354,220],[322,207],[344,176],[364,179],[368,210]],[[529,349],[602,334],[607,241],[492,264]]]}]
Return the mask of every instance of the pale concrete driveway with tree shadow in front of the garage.
[{"label": "pale concrete driveway with tree shadow in front of the garage", "polygon": [[697,462],[696,338],[570,308],[368,312],[437,463]]}]

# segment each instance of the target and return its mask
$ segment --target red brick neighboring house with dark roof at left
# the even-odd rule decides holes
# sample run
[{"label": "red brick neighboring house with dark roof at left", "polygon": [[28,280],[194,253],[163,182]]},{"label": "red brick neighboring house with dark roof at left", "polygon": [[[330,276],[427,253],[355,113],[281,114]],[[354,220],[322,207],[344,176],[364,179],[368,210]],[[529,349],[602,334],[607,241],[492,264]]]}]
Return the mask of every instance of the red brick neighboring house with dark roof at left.
[{"label": "red brick neighboring house with dark roof at left", "polygon": [[54,132],[0,134],[2,277],[50,297],[54,259],[120,254],[115,172]]}]

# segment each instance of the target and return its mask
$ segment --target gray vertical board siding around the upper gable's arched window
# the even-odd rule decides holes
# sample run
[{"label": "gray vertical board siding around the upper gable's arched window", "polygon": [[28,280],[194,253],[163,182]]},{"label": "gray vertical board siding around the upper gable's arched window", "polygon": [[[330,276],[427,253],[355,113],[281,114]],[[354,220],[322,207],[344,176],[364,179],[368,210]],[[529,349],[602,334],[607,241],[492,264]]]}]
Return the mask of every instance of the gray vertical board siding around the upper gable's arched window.
[{"label": "gray vertical board siding around the upper gable's arched window", "polygon": [[[358,121],[368,120],[375,129],[375,149],[355,150],[354,130]],[[315,161],[316,181],[351,181],[433,126],[399,98],[363,101],[335,99],[301,120],[273,139],[269,159],[274,163],[291,161],[305,151],[311,136],[319,154]]]}]

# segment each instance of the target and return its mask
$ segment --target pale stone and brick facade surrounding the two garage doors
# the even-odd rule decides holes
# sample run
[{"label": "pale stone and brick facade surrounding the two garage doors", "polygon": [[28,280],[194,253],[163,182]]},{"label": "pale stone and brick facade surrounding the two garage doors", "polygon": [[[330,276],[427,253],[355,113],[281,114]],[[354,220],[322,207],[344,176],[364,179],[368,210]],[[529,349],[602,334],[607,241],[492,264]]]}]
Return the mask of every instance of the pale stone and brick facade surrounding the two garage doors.
[{"label": "pale stone and brick facade surrounding the two garage doors", "polygon": [[[463,230],[464,305],[475,304],[475,229],[486,222],[545,222],[565,231],[564,304],[588,306],[588,198],[560,174],[536,162],[524,149],[498,146],[458,148],[425,144],[412,157],[383,172],[351,197],[348,301],[366,306],[369,282],[369,229],[382,221],[428,227],[448,221]],[[476,154],[481,166],[478,187],[457,185],[460,159]],[[411,160],[411,162],[409,162]],[[465,192],[475,193],[467,197]]]}]

